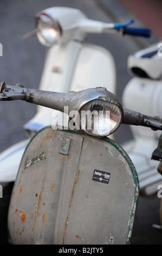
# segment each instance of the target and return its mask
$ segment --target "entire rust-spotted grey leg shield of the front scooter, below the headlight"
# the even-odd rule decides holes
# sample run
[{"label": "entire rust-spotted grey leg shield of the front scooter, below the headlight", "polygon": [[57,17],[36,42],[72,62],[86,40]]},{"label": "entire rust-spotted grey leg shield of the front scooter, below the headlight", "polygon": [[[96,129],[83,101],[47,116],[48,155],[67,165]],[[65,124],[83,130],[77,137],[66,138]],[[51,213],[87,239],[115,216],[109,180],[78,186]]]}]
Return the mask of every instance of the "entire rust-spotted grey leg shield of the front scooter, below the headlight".
[{"label": "entire rust-spotted grey leg shield of the front scooter, below the headlight", "polygon": [[111,139],[39,131],[25,150],[9,208],[14,244],[129,243],[138,176]]}]

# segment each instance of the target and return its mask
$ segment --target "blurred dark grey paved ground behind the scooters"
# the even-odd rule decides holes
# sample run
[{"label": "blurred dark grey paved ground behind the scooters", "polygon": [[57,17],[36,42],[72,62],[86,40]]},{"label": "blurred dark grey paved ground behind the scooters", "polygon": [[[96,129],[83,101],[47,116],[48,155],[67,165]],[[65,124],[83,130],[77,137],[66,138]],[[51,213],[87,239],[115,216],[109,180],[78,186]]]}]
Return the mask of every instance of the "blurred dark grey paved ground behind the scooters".
[{"label": "blurred dark grey paved ground behind the scooters", "polygon": [[[94,0],[15,0],[0,2],[1,35],[0,42],[3,45],[3,56],[0,57],[1,82],[7,84],[22,83],[27,88],[38,88],[46,48],[38,42],[36,36],[26,41],[21,36],[34,29],[34,15],[37,11],[52,6],[67,6],[78,8],[85,13],[89,19],[105,22],[116,21],[116,11],[121,14],[117,1]],[[113,2],[113,5],[112,5]],[[107,4],[106,3],[106,4]],[[114,8],[114,3],[115,5]],[[123,9],[122,9],[123,10]],[[119,12],[118,12],[119,11]],[[140,22],[139,20],[137,22]],[[152,38],[151,42],[155,42]],[[88,42],[107,48],[114,56],[117,73],[116,95],[122,100],[122,92],[131,79],[127,72],[127,57],[130,53],[140,50],[150,41],[137,40],[130,36],[121,37],[114,34],[89,35]],[[10,145],[25,139],[23,124],[27,123],[36,113],[36,106],[27,102],[12,101],[0,103],[0,152]],[[131,138],[128,126],[122,126],[116,132],[116,140],[122,143]],[[132,245],[156,245],[162,243],[161,231],[152,228],[152,224],[159,224],[160,199],[157,194],[152,197],[139,197],[137,215],[135,217]]]}]

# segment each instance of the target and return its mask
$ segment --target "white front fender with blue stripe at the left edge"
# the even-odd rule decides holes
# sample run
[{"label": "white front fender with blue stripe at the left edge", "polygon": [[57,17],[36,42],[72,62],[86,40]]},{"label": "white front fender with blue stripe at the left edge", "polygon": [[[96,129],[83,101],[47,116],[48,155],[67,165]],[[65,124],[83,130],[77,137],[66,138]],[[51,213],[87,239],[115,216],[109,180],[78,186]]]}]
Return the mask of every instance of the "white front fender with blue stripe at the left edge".
[{"label": "white front fender with blue stripe at the left edge", "polygon": [[12,145],[0,154],[0,182],[15,181],[18,167],[29,139]]}]

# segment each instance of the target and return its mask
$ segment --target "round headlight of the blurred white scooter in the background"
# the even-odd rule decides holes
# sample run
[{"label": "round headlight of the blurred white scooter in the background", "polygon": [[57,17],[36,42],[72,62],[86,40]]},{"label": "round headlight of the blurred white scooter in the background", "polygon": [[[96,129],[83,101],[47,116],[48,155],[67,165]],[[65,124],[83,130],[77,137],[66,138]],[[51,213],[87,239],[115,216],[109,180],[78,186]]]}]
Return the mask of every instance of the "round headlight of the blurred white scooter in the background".
[{"label": "round headlight of the blurred white scooter in the background", "polygon": [[36,34],[42,45],[50,47],[60,39],[61,27],[56,20],[41,13],[36,17]]}]

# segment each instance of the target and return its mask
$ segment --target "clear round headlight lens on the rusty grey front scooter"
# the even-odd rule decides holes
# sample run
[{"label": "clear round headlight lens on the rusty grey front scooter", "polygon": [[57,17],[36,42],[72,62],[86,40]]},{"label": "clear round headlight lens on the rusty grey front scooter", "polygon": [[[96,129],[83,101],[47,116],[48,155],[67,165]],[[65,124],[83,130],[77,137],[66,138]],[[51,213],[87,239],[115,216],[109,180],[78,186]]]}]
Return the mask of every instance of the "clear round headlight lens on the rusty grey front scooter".
[{"label": "clear round headlight lens on the rusty grey front scooter", "polygon": [[81,130],[90,136],[107,137],[118,129],[122,113],[118,106],[102,100],[93,100],[80,109]]}]

